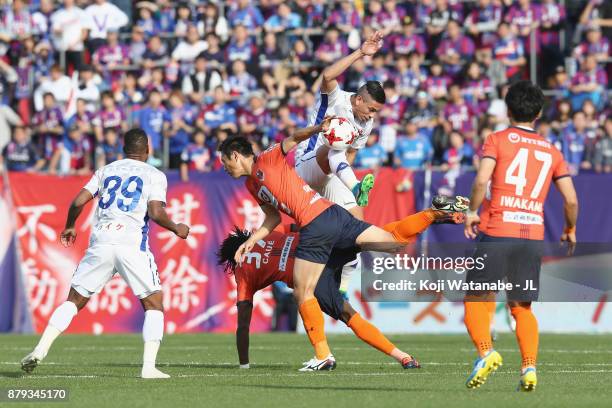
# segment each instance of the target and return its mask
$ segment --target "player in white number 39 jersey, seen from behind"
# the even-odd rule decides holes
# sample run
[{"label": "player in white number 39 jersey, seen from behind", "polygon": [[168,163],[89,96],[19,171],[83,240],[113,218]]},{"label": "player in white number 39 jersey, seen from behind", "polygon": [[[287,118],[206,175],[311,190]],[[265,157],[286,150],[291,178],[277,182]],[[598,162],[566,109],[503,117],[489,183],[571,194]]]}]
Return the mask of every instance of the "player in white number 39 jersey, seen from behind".
[{"label": "player in white number 39 jersey, seen from behind", "polygon": [[148,245],[148,222],[151,219],[183,239],[189,235],[189,227],[175,224],[168,217],[164,209],[168,182],[164,173],[146,164],[148,146],[147,134],[142,129],[128,131],[124,147],[126,159],[98,169],[72,202],[61,233],[64,246],[74,243],[75,223],[85,205],[100,197],[89,248],[72,276],[68,299],[51,315],[34,351],[21,360],[24,371],[36,368],[89,298],[99,293],[118,272],[145,310],[141,377],[170,377],[155,368],[164,332],[164,314],[159,274]]}]

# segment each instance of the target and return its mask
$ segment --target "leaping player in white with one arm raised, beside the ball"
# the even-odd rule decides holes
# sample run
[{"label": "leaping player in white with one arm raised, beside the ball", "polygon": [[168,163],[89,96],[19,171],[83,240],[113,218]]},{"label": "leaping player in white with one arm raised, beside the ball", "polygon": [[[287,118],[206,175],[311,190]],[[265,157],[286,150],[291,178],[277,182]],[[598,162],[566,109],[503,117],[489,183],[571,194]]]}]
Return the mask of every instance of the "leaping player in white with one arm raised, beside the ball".
[{"label": "leaping player in white with one arm raised, beside the ball", "polygon": [[[363,148],[372,131],[376,114],[385,104],[385,91],[378,81],[367,81],[357,93],[340,89],[337,78],[351,65],[372,56],[382,46],[383,34],[374,33],[352,54],[325,68],[322,73],[319,106],[309,119],[309,126],[320,123],[325,116],[348,119],[358,136],[348,150],[334,150],[323,144],[323,137],[314,135],[300,143],[295,153],[295,169],[314,190],[328,200],[344,207],[356,218],[363,220],[363,209],[368,204],[368,194],[374,187],[374,176],[366,175],[359,181],[351,168],[357,150]],[[342,271],[340,291],[346,293],[349,278],[359,265],[359,257],[347,264]]]}]

